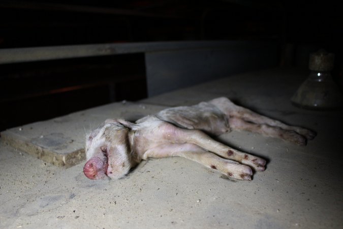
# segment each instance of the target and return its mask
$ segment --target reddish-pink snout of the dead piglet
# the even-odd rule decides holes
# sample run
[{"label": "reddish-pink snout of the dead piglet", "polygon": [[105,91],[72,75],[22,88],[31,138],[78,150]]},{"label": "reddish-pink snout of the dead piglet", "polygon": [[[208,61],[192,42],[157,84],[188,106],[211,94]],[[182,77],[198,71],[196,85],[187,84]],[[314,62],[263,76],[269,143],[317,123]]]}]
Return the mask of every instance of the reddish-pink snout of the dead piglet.
[{"label": "reddish-pink snout of the dead piglet", "polygon": [[104,179],[107,176],[107,158],[92,157],[83,167],[84,175],[91,180]]}]

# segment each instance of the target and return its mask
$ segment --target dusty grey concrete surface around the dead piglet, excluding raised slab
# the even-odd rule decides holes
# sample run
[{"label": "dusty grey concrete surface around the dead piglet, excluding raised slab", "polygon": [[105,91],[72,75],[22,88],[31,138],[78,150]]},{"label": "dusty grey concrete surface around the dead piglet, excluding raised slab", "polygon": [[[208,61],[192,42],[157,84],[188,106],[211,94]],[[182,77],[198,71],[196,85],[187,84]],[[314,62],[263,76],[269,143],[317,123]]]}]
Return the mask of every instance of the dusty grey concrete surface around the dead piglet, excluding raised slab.
[{"label": "dusty grey concrete surface around the dead piglet, excluding raised slab", "polygon": [[342,228],[343,112],[293,107],[289,98],[304,78],[272,69],[141,101],[173,106],[227,96],[318,133],[306,147],[244,131],[221,135],[226,144],[268,159],[250,182],[177,157],[145,161],[117,181],[92,181],[83,163],[56,167],[0,140],[0,227]]}]

